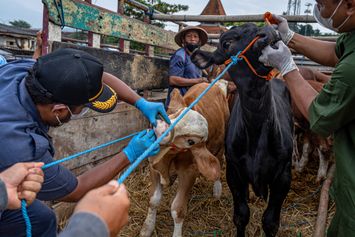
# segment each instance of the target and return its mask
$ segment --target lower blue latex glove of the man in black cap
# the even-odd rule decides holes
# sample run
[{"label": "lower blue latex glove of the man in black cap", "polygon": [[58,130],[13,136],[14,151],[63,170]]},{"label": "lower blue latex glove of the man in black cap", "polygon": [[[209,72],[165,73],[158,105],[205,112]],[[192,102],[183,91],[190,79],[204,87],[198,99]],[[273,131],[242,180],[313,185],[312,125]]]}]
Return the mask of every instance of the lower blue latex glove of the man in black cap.
[{"label": "lower blue latex glove of the man in black cap", "polygon": [[[139,156],[147,150],[150,145],[152,145],[156,140],[154,130],[144,130],[138,133],[136,136],[132,138],[132,140],[128,143],[123,149],[123,152],[126,154],[129,162],[133,163]],[[160,146],[157,144],[154,149],[148,154],[148,156],[154,156],[158,154],[160,151]]]}]

